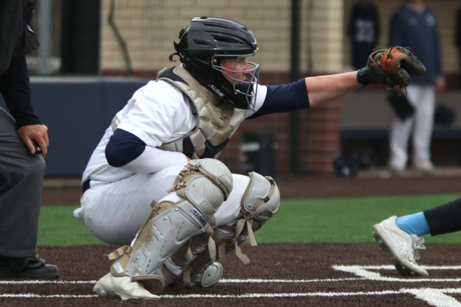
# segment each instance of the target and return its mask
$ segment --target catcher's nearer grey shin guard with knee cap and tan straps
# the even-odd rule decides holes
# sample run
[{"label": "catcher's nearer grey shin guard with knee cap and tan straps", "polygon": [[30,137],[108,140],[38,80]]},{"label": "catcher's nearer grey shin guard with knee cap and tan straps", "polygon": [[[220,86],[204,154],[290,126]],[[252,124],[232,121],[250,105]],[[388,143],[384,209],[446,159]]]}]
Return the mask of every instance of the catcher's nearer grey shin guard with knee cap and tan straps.
[{"label": "catcher's nearer grey shin guard with knee cap and tan straps", "polygon": [[232,174],[218,160],[191,160],[179,174],[172,191],[182,200],[153,202],[153,211],[139,231],[128,261],[125,259],[125,265],[115,262],[112,274],[132,276],[139,281],[143,280],[139,276],[154,274],[168,257],[208,224],[232,191]]}]

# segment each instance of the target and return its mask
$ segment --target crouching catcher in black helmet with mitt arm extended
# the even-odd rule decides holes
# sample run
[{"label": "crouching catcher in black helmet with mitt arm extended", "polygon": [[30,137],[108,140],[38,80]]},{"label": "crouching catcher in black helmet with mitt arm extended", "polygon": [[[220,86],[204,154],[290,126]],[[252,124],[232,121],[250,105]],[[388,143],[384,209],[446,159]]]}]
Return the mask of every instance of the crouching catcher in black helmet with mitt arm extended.
[{"label": "crouching catcher in black helmet with mitt arm extended", "polygon": [[219,153],[245,119],[335,100],[371,83],[405,87],[424,66],[405,48],[376,50],[358,72],[258,84],[254,34],[236,21],[195,17],[179,33],[156,80],[114,117],[83,173],[89,230],[109,244],[110,272],[94,291],[122,300],[159,299],[166,287],[211,287],[226,253],[249,259],[257,231],[279,208],[275,181],[233,174]]}]

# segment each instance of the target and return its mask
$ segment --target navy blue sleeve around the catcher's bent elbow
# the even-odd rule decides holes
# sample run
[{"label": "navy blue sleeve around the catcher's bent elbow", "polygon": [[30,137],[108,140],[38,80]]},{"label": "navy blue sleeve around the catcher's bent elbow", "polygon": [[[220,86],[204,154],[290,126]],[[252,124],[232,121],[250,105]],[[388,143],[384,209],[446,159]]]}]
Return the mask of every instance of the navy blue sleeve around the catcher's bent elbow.
[{"label": "navy blue sleeve around the catcher's bent elbow", "polygon": [[144,152],[145,143],[137,136],[122,129],[115,129],[106,145],[109,165],[120,167],[138,158]]}]

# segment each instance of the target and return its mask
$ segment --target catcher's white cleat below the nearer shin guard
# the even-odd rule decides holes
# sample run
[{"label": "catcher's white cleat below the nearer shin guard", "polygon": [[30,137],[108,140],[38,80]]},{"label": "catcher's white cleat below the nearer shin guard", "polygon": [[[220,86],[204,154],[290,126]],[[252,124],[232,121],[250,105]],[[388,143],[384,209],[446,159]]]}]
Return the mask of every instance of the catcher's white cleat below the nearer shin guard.
[{"label": "catcher's white cleat below the nearer shin guard", "polygon": [[160,297],[144,289],[141,283],[131,281],[129,276],[115,277],[111,273],[102,276],[93,287],[93,292],[103,297],[119,297],[127,299],[152,299]]}]

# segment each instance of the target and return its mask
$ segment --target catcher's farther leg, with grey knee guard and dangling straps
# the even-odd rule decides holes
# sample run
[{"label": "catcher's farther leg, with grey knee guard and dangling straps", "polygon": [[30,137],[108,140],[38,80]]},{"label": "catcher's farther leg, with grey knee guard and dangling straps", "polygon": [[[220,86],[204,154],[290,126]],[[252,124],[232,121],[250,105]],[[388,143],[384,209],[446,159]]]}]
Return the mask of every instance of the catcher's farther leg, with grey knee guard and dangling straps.
[{"label": "catcher's farther leg, with grey knee guard and dangling straps", "polygon": [[[273,179],[252,172],[250,176],[234,174],[234,189],[216,212],[216,227],[213,238],[217,244],[217,259],[212,259],[206,249],[206,240],[201,235],[192,239],[192,259],[175,254],[165,262],[164,271],[170,274],[170,282],[177,287],[211,287],[222,276],[225,254],[235,251],[246,265],[250,260],[240,249],[248,238],[252,246],[257,245],[255,231],[272,217],[280,204],[279,190]],[[172,276],[173,275],[173,276]]]}]

